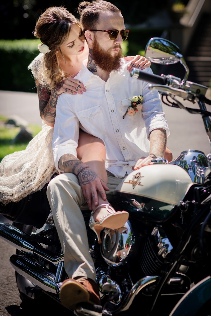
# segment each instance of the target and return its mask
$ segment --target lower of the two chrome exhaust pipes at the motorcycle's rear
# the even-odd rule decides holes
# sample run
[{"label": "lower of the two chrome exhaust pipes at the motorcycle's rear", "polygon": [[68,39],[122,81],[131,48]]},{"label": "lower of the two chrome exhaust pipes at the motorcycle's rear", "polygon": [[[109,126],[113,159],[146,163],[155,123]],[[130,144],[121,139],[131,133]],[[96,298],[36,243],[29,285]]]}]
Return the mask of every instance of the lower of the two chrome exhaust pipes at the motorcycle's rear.
[{"label": "lower of the two chrome exhaust pipes at the motorcycle's rear", "polygon": [[53,273],[49,273],[49,271],[46,271],[39,264],[21,255],[14,254],[10,257],[9,261],[15,271],[21,276],[46,292],[59,295],[62,282],[56,283]]}]

